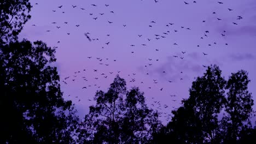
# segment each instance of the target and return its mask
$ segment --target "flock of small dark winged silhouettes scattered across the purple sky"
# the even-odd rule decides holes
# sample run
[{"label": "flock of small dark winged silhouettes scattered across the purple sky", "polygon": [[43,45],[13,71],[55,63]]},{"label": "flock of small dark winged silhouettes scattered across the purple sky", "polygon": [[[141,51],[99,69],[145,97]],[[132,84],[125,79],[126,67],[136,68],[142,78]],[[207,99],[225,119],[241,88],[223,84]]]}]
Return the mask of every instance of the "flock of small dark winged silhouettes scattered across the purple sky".
[{"label": "flock of small dark winged silhouettes scattered across the purple sky", "polygon": [[[159,1],[156,1],[156,0],[152,0],[153,2],[155,3],[160,3]],[[183,3],[183,2],[182,2]],[[185,5],[190,5],[190,4],[196,4],[197,1],[187,1],[187,2],[184,2]],[[36,5],[38,5],[39,3],[36,3]],[[223,4],[224,5],[224,2],[216,2],[216,4]],[[115,14],[115,11],[110,9],[111,8],[111,5],[109,4],[102,4],[102,5],[96,5],[96,4],[90,4],[91,7],[101,7],[102,9],[106,9],[106,13],[108,14]],[[52,12],[53,13],[57,13],[59,11],[61,11],[61,13],[65,14],[65,7],[71,7],[73,9],[80,9],[81,11],[86,11],[85,8],[81,8],[79,7],[79,5],[59,5],[56,7],[56,9],[53,9]],[[231,8],[226,8],[227,11],[230,11],[232,12],[233,9]],[[88,12],[88,11],[87,11]],[[106,13],[88,13],[89,16],[91,17],[91,20],[92,21],[97,21],[98,19],[101,18],[101,16],[104,16],[106,15]],[[213,11],[212,12],[212,15],[217,15],[217,12],[216,11]],[[216,16],[217,17],[217,16]],[[232,25],[238,25],[238,21],[239,20],[242,20],[243,17],[242,16],[237,16],[236,19],[234,19],[234,21],[232,22]],[[222,18],[221,17],[217,17],[216,18],[216,21],[222,21]],[[206,20],[202,20],[201,21],[202,23],[206,23],[207,21]],[[153,40],[159,40],[159,39],[165,39],[168,37],[168,35],[171,35],[173,33],[179,33],[179,31],[193,31],[193,28],[191,27],[184,27],[184,26],[179,26],[180,28],[179,29],[173,29],[173,25],[176,25],[175,22],[167,22],[167,23],[158,23],[157,21],[149,21],[148,22],[149,25],[148,27],[149,28],[153,28],[155,27],[156,25],[163,25],[165,26],[166,28],[168,28],[169,30],[168,31],[164,31],[164,32],[159,32],[158,34],[152,34],[152,35],[143,35],[143,34],[136,34],[136,37],[139,39],[139,38],[144,38],[146,41],[144,41],[143,43],[141,43],[141,45],[135,45],[135,44],[130,44],[129,46],[130,47],[138,47],[138,46],[142,46],[142,47],[147,47],[148,45],[150,45],[150,42],[153,41]],[[51,25],[54,25],[54,27],[56,29],[61,29],[62,28],[62,25],[69,25],[69,22],[68,21],[63,21],[62,23],[58,23],[58,22],[51,22]],[[77,27],[79,28],[82,24],[81,23],[77,23],[77,25],[74,25],[74,27]],[[106,21],[106,25],[115,25],[115,21]],[[35,24],[33,24],[32,26],[37,26]],[[124,27],[126,28],[128,25],[126,25],[125,23],[123,24],[123,26],[121,27]],[[115,26],[117,27],[117,26]],[[47,33],[50,33],[51,31],[53,31],[53,29],[48,29],[46,32]],[[84,33],[84,36],[85,36],[85,39],[88,39],[89,41],[91,42],[94,42],[94,41],[98,41],[100,40],[99,38],[95,38],[93,36],[91,36],[92,34],[89,33],[89,32],[83,32]],[[71,32],[66,32],[67,35],[72,35]],[[106,37],[110,37],[110,34],[105,34]],[[207,39],[208,36],[210,35],[210,31],[203,31],[201,37],[199,37],[199,39]],[[223,30],[222,33],[220,33],[220,36],[221,37],[226,37],[226,31]],[[57,41],[57,43],[60,43],[60,41]],[[112,41],[105,41],[102,45],[102,49],[104,49],[105,47],[109,46],[111,43],[114,43]],[[178,46],[179,44],[177,43],[173,43],[173,46]],[[208,46],[212,46],[212,45],[217,45],[217,42],[214,42],[212,44],[208,44]],[[224,44],[224,45],[228,45],[228,44]],[[200,44],[196,45],[197,47],[200,47]],[[57,46],[55,46],[57,47]],[[155,49],[155,51],[159,51],[159,49]],[[135,51],[131,51],[131,53],[135,53]],[[180,61],[183,61],[184,57],[186,56],[187,52],[186,51],[181,51],[181,55],[173,55],[173,58],[177,58],[179,59]],[[201,53],[202,56],[207,56],[208,53],[205,53],[205,52],[202,52]],[[95,59],[95,61],[98,61],[100,65],[105,65],[105,66],[109,66],[111,63],[113,62],[116,62],[117,59],[111,59],[111,58],[101,58],[101,57],[92,57],[92,56],[88,56],[87,59]],[[149,69],[152,65],[153,65],[153,61],[154,62],[158,62],[159,59],[153,59],[153,58],[147,58],[148,59],[148,63],[143,65],[144,68],[147,68]],[[202,65],[202,67],[206,68],[207,66],[206,65]],[[114,75],[114,74],[119,74],[121,73],[121,71],[117,71],[116,73],[114,71],[104,71],[104,72],[100,72],[100,70],[98,69],[81,69],[81,70],[78,70],[78,71],[74,71],[74,74],[73,75],[69,75],[69,76],[66,76],[66,77],[63,77],[62,79],[62,83],[63,85],[68,85],[70,82],[74,82],[76,81],[77,79],[82,79],[83,81],[85,81],[85,83],[88,83],[88,79],[85,77],[84,73],[86,73],[86,71],[91,71],[91,72],[94,72],[95,74],[97,74],[98,76],[95,76],[94,79],[95,80],[99,80],[99,79],[108,79],[108,77],[110,75]],[[180,74],[183,74],[184,71],[180,71]],[[163,74],[166,74],[167,71],[162,71]],[[128,76],[131,76],[131,80],[129,82],[135,82],[136,79],[133,77],[135,76],[136,73],[131,73],[129,74]],[[146,75],[149,75],[149,73],[146,73]],[[179,80],[183,80],[183,77],[179,77]],[[140,83],[144,83],[143,81],[139,81]],[[157,84],[158,81],[156,79],[153,79],[152,77],[152,82],[154,84]],[[169,83],[173,83],[175,81],[173,80],[166,80],[166,82],[169,82]],[[86,89],[89,89],[90,87],[96,87],[96,88],[100,88],[100,86],[96,85],[96,84],[93,84],[93,85],[86,85],[86,86],[82,86],[81,88],[83,90],[86,90]],[[149,89],[152,89],[153,86],[151,87],[148,87]],[[164,89],[162,87],[159,88],[159,91],[168,91],[168,89]],[[70,94],[68,96],[71,96]],[[176,103],[177,99],[175,99],[176,95],[175,94],[172,94],[170,95],[170,97],[172,97],[172,101],[173,103]],[[75,97],[77,98],[78,101],[80,101],[81,99],[77,96]],[[154,99],[154,98],[152,98]],[[91,99],[88,99],[89,101],[92,101]],[[172,108],[174,109],[174,106],[168,106],[168,105],[161,105],[160,101],[158,100],[153,100],[154,103],[152,103],[151,105],[158,109],[159,111],[161,111],[162,109],[168,109],[168,108]],[[170,120],[170,114],[167,115],[166,112],[164,112],[165,114],[165,118],[166,120]]]}]

